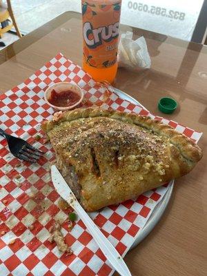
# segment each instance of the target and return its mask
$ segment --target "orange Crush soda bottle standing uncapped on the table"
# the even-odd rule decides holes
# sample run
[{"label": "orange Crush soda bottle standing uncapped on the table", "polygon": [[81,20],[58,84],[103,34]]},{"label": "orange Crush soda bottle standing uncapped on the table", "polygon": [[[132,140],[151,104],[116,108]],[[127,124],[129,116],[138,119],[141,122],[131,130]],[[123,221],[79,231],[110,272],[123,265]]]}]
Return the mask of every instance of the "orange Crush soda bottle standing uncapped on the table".
[{"label": "orange Crush soda bottle standing uncapped on the table", "polygon": [[83,69],[95,81],[112,83],[117,74],[121,0],[81,0]]}]

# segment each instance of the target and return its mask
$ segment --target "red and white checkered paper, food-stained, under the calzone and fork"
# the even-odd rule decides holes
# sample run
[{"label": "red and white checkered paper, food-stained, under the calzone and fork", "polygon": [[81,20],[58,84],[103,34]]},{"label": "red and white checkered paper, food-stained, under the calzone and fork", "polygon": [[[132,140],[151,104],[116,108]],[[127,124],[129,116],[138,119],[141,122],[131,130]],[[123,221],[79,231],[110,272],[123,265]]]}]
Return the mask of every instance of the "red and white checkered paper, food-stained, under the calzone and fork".
[{"label": "red and white checkered paper, food-stained, under the calzone and fork", "polygon": [[[68,231],[68,210],[60,210],[59,195],[50,180],[50,161],[53,158],[50,143],[43,144],[43,138],[34,140],[40,132],[43,119],[51,118],[54,110],[43,100],[44,90],[57,81],[74,81],[86,91],[87,105],[114,108],[152,118],[169,124],[194,141],[201,133],[175,121],[155,117],[129,101],[110,95],[103,102],[101,89],[79,66],[59,54],[19,86],[0,96],[1,128],[12,135],[27,139],[46,152],[38,164],[21,163],[14,158],[6,144],[0,142],[0,274],[6,275],[112,275],[114,270],[101,253],[82,221],[77,221]],[[43,135],[41,135],[43,136]],[[17,174],[21,175],[16,179]],[[21,186],[19,186],[21,185]],[[119,206],[109,206],[91,213],[97,226],[125,255],[135,242],[137,233],[144,227],[152,210],[164,197],[168,185],[151,190],[136,200],[128,200]],[[55,220],[62,222],[62,233],[72,247],[73,255],[61,253],[55,244],[48,242],[48,229]],[[30,230],[29,226],[34,225]],[[1,232],[5,231],[5,235]],[[16,239],[14,244],[10,244]]]}]

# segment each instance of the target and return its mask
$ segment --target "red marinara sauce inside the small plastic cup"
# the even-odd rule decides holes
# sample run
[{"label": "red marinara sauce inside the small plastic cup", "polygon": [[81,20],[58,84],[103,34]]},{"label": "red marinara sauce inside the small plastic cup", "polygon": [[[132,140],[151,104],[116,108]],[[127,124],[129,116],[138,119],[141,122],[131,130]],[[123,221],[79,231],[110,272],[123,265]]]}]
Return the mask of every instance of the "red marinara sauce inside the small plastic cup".
[{"label": "red marinara sauce inside the small plastic cup", "polygon": [[81,99],[81,96],[72,90],[66,90],[57,93],[55,89],[52,89],[50,98],[48,99],[49,103],[52,106],[67,107],[73,106],[77,101]]}]

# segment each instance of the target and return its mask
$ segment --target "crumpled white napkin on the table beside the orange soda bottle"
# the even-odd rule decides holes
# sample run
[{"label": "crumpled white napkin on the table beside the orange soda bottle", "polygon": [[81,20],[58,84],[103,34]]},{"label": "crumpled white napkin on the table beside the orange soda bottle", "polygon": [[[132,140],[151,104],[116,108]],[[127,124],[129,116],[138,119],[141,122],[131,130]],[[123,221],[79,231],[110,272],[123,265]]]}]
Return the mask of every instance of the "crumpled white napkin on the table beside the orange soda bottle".
[{"label": "crumpled white napkin on the table beside the orange soda bottle", "polygon": [[119,41],[119,67],[130,69],[150,68],[151,60],[144,37],[132,40],[133,33],[121,34]]}]

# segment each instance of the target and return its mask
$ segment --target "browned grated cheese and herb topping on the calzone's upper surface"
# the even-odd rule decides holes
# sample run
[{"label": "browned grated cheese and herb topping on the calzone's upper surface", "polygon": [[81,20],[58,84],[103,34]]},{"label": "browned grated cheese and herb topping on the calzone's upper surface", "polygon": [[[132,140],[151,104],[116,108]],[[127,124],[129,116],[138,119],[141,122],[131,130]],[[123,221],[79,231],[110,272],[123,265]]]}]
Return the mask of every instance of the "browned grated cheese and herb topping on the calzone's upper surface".
[{"label": "browned grated cheese and herb topping on the calzone's upper surface", "polygon": [[71,163],[72,160],[76,161],[76,164],[86,163],[90,156],[97,176],[101,174],[101,155],[108,158],[109,166],[128,166],[129,170],[140,170],[140,180],[150,170],[160,176],[165,175],[169,167],[169,157],[163,159],[163,156],[167,156],[164,152],[166,144],[170,143],[169,139],[139,126],[135,128],[135,125],[131,127],[108,117],[96,117],[63,122],[60,128],[52,132],[52,144],[59,154],[66,150],[68,159],[71,159]]}]

